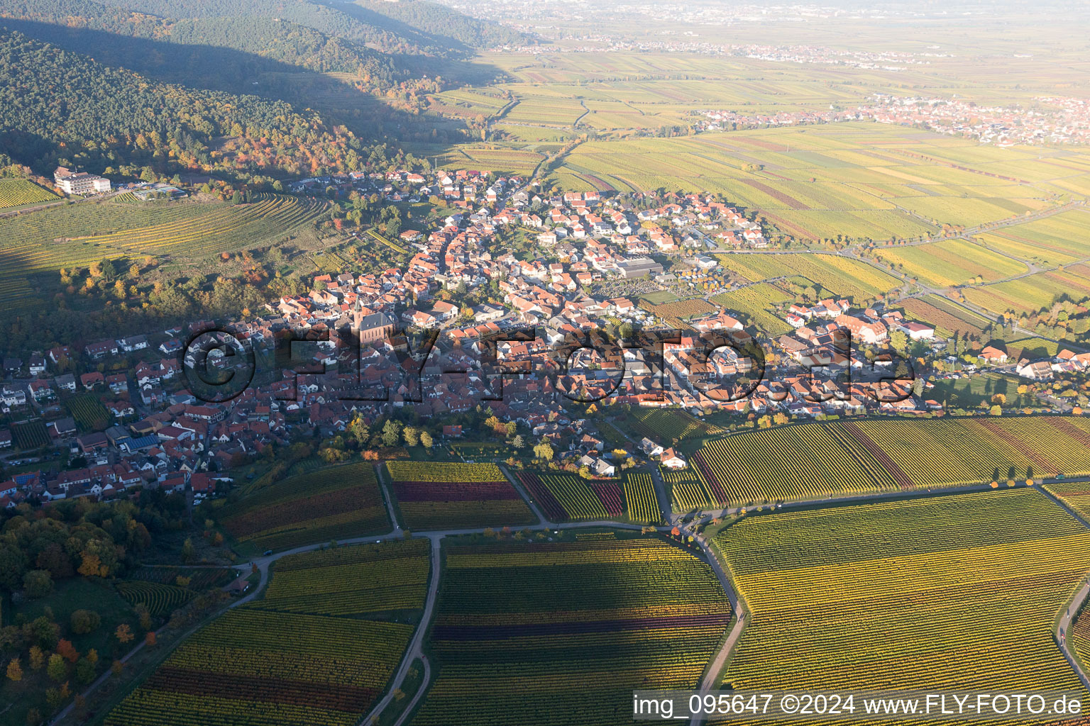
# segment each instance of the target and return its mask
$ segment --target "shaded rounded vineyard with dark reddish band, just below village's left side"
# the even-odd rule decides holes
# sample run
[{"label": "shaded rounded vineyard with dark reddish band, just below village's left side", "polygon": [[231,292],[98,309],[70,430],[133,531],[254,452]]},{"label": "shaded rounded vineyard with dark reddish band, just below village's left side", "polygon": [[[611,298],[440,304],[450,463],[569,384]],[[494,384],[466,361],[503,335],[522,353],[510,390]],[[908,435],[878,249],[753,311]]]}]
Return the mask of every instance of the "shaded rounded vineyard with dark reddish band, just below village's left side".
[{"label": "shaded rounded vineyard with dark reddish band, just below village's left side", "polygon": [[288,477],[215,510],[219,524],[258,550],[375,534],[391,524],[370,463]]}]

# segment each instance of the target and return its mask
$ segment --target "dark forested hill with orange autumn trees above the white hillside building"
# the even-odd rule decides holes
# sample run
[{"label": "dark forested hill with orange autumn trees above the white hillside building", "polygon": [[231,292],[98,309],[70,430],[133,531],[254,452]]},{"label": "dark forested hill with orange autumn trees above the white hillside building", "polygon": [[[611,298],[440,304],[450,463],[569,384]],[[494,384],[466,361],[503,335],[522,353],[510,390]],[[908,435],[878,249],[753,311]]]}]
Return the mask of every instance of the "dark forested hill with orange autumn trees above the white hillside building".
[{"label": "dark forested hill with orange autumn trees above the white hillside building", "polygon": [[7,29],[0,78],[0,153],[40,172],[63,160],[89,171],[310,174],[352,168],[367,152],[317,112],[155,83]]}]

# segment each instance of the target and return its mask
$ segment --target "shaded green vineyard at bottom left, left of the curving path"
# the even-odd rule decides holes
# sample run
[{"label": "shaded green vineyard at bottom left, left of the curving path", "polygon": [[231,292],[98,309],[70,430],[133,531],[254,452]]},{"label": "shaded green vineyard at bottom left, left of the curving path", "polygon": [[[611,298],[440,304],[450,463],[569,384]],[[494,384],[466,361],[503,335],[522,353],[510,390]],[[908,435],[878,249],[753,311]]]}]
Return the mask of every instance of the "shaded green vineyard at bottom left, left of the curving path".
[{"label": "shaded green vineyard at bottom left, left of the curving path", "polygon": [[[419,618],[428,546],[398,541],[278,561],[264,600],[185,640],[106,725],[355,726],[412,637],[405,618],[387,616]],[[412,582],[390,588],[374,576],[383,567],[408,570]]]}]

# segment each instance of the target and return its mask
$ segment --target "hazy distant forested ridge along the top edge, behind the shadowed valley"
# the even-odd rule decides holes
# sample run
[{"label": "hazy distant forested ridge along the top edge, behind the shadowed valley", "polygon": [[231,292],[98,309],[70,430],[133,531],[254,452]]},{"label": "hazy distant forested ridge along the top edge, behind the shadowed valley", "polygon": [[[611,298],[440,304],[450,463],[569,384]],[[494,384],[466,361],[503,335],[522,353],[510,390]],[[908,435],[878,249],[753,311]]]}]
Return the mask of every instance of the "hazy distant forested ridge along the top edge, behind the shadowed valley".
[{"label": "hazy distant forested ridge along the top edge, behind the shadowed valley", "polygon": [[387,53],[464,57],[473,48],[532,40],[497,23],[425,0],[104,0],[117,8],[181,20],[266,17],[304,25]]}]

